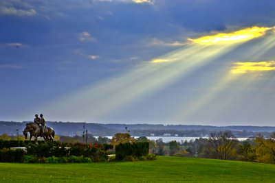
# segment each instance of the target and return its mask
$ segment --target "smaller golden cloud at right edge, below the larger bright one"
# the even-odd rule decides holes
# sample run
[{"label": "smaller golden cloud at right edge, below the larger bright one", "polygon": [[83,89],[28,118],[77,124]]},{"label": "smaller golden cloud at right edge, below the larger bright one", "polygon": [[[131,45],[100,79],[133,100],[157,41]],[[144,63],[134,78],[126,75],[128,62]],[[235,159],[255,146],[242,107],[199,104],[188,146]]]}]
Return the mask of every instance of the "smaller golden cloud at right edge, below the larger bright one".
[{"label": "smaller golden cloud at right edge, below the larger bright one", "polygon": [[248,72],[259,72],[259,71],[275,71],[275,61],[265,62],[236,62],[236,66],[233,66],[231,73],[248,73]]}]

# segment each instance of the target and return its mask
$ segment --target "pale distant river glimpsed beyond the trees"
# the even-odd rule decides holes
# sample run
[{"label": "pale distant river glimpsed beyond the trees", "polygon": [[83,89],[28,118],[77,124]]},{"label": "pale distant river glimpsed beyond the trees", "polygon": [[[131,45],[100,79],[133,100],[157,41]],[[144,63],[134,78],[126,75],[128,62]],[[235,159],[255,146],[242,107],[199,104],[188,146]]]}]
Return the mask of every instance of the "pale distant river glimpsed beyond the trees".
[{"label": "pale distant river glimpsed beyond the trees", "polygon": [[[95,136],[96,138],[98,138],[98,136]],[[112,138],[112,136],[105,136],[107,138]],[[135,136],[135,138],[138,138],[139,136]],[[162,138],[162,141],[164,141],[164,143],[168,143],[170,141],[177,141],[179,143],[181,143],[181,141],[195,141],[196,138],[208,138],[208,137],[188,137],[188,136],[146,136],[150,141],[156,141],[159,138]],[[236,138],[239,141],[245,141],[248,138]]]}]

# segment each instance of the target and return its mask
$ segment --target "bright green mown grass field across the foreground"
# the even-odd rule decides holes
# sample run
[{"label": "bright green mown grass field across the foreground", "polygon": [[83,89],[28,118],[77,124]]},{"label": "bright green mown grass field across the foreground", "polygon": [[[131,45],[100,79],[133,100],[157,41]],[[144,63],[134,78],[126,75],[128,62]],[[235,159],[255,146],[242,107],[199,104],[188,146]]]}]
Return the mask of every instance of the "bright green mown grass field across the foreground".
[{"label": "bright green mown grass field across the foreground", "polygon": [[176,158],[90,164],[0,163],[0,182],[275,182],[275,165]]}]

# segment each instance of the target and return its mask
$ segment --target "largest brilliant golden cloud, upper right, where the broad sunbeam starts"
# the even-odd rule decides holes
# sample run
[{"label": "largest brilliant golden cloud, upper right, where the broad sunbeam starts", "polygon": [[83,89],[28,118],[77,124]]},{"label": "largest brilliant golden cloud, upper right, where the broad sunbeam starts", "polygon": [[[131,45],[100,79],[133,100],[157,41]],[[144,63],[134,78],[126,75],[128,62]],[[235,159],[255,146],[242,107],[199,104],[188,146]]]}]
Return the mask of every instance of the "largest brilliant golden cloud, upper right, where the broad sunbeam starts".
[{"label": "largest brilliant golden cloud, upper right, where the broad sunbeam starts", "polygon": [[225,42],[237,42],[243,40],[250,40],[252,38],[258,38],[265,35],[265,32],[273,27],[251,27],[241,29],[236,32],[230,33],[219,33],[212,36],[203,36],[197,39],[188,39],[192,42],[201,44],[215,44],[215,43],[225,43]]}]

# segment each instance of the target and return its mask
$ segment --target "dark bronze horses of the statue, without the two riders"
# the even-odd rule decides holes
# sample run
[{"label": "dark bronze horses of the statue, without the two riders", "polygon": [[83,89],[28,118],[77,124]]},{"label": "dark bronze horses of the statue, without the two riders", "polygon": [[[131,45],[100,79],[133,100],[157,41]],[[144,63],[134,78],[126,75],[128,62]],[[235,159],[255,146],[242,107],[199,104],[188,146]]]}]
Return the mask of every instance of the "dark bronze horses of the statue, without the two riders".
[{"label": "dark bronze horses of the statue, without the two riders", "polygon": [[[43,137],[44,141],[54,141],[54,129],[52,127],[45,127],[44,135],[42,134],[42,127],[36,123],[27,123],[23,131],[25,139],[28,138],[28,132],[30,133],[30,140],[32,136],[35,138],[35,143],[38,144],[37,138]],[[30,142],[30,141],[29,141]]]}]

